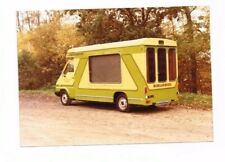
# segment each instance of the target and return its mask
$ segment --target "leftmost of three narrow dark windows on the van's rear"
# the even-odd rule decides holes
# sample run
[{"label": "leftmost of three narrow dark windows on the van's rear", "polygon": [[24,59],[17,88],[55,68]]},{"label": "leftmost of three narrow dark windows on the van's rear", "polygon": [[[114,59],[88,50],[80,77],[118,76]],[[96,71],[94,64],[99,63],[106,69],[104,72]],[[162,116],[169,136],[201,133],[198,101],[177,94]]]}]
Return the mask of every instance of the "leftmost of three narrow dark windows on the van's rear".
[{"label": "leftmost of three narrow dark windows on the van's rear", "polygon": [[155,49],[147,49],[147,82],[155,82]]}]

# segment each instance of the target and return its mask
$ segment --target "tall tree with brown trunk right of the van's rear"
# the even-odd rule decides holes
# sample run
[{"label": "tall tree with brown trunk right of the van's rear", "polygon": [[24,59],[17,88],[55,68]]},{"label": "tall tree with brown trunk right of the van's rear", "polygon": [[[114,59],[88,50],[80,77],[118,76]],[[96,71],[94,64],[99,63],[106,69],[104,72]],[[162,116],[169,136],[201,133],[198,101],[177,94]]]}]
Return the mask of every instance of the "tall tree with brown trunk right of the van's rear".
[{"label": "tall tree with brown trunk right of the van's rear", "polygon": [[[200,68],[201,63],[205,64],[205,66],[210,65],[210,59],[205,62],[205,54],[208,53],[210,55],[210,39],[209,39],[209,17],[205,17],[204,22],[206,24],[202,24],[200,19],[203,18],[198,17],[197,20],[193,20],[192,13],[196,10],[196,7],[183,7],[183,13],[186,17],[186,25],[184,26],[184,33],[182,34],[182,38],[179,40],[180,42],[180,52],[186,54],[189,60],[189,89],[193,93],[197,93],[201,91],[201,79],[200,73],[202,69]],[[205,31],[202,31],[202,30]],[[205,55],[205,56],[204,56]],[[181,55],[182,56],[182,55]],[[182,58],[181,58],[182,59]],[[205,60],[205,61],[203,61]],[[181,65],[184,67],[184,65]],[[182,69],[182,67],[181,67]],[[186,69],[187,70],[187,69]],[[207,73],[210,74],[210,68]],[[211,84],[210,84],[211,85]]]}]

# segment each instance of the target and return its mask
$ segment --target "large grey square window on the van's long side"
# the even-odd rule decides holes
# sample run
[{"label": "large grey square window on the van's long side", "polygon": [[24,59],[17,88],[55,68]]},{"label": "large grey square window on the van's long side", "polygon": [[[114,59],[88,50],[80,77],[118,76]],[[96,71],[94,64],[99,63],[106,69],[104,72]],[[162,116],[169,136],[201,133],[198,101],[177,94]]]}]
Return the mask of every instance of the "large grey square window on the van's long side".
[{"label": "large grey square window on the van's long side", "polygon": [[101,55],[89,57],[90,82],[120,83],[121,65],[120,55]]}]

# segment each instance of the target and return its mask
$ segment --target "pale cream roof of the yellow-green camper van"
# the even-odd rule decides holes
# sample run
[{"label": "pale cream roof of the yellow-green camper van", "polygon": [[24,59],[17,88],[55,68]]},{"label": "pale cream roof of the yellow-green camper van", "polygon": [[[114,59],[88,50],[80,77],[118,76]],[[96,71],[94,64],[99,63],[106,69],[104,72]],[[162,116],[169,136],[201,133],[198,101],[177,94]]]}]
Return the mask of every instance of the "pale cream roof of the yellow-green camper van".
[{"label": "pale cream roof of the yellow-green camper van", "polygon": [[162,38],[141,38],[141,39],[135,39],[135,40],[71,48],[68,50],[67,53],[68,54],[82,53],[85,51],[95,51],[95,50],[103,50],[103,49],[110,49],[110,48],[122,48],[122,47],[129,47],[129,46],[138,46],[138,45],[176,46],[177,43],[176,41],[169,40],[169,39],[162,39]]}]

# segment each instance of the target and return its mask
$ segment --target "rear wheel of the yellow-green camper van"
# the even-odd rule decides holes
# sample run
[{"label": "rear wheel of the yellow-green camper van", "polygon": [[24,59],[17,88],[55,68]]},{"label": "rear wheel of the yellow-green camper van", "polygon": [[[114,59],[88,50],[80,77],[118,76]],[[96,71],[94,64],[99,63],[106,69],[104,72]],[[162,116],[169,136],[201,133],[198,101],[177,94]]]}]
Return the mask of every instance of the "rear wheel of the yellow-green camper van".
[{"label": "rear wheel of the yellow-green camper van", "polygon": [[116,107],[119,111],[129,112],[130,106],[128,104],[128,100],[125,94],[120,94],[116,97]]}]

